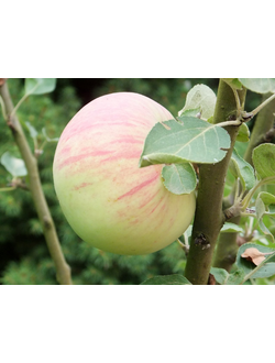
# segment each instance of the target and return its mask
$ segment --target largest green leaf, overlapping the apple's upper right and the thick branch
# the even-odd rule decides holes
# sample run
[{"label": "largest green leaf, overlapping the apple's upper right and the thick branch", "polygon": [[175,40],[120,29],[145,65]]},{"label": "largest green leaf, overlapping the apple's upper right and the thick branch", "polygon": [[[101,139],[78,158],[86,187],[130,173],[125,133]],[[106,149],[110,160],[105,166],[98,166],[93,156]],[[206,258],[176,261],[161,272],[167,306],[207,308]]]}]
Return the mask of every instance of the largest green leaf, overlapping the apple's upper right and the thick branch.
[{"label": "largest green leaf, overlapping the apple's upper right and the thick branch", "polygon": [[179,118],[156,123],[150,131],[140,160],[140,167],[152,164],[220,162],[230,147],[228,132],[217,124],[197,118]]}]

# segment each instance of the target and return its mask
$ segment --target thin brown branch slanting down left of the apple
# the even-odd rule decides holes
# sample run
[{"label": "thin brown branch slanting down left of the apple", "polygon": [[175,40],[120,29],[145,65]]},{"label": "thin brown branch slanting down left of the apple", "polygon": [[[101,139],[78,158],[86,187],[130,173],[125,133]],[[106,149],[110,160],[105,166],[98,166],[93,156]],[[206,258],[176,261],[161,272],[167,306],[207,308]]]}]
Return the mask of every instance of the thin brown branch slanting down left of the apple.
[{"label": "thin brown branch slanting down left of the apple", "polygon": [[[20,150],[21,156],[25,162],[25,166],[30,177],[30,191],[32,194],[32,198],[34,201],[35,210],[37,212],[40,222],[43,227],[43,232],[45,235],[50,254],[56,267],[57,282],[62,285],[73,285],[70,278],[70,267],[66,263],[65,257],[63,255],[62,248],[56,233],[55,224],[52,219],[44,193],[42,190],[37,161],[35,156],[32,154],[32,151],[24,135],[24,132],[16,118],[16,114],[13,114],[12,112],[14,107],[9,94],[7,81],[0,86],[0,96],[2,97],[6,108],[6,113],[8,118],[7,123],[12,131],[13,138]],[[10,117],[11,114],[13,116]]]}]

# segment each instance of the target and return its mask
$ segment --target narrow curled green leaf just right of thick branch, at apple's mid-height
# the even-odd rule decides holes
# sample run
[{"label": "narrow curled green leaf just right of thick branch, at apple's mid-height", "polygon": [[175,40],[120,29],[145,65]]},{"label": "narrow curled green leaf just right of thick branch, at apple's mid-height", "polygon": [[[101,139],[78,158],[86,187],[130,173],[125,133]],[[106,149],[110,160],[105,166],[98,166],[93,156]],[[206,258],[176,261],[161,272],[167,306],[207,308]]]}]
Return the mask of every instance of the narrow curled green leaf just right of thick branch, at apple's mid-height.
[{"label": "narrow curled green leaf just right of thick branch, at apple's mid-height", "polygon": [[255,186],[256,180],[253,167],[238,154],[235,148],[231,156],[230,170],[235,177],[240,178],[243,191],[250,190]]}]

